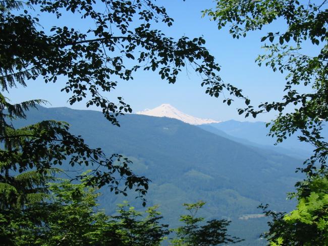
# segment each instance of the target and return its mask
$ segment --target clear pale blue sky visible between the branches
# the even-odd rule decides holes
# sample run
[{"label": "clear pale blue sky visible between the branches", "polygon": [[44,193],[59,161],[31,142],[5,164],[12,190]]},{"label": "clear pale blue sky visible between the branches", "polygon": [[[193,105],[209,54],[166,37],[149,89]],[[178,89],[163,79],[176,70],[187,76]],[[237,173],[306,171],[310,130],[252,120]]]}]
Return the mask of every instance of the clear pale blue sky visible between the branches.
[{"label": "clear pale blue sky visible between the branches", "polygon": [[[166,7],[168,14],[175,20],[172,27],[167,28],[160,25],[167,35],[179,38],[182,35],[188,37],[203,36],[206,47],[216,57],[216,61],[222,66],[221,77],[244,91],[252,104],[280,100],[285,85],[284,75],[274,73],[269,68],[258,67],[254,60],[257,54],[263,52],[260,46],[260,38],[268,31],[249,33],[246,38],[233,39],[228,29],[217,30],[216,24],[209,21],[207,17],[201,18],[201,11],[214,7],[211,0],[167,0],[157,1],[158,5]],[[40,16],[45,30],[52,25],[68,25],[78,29],[86,28],[70,15],[64,16],[57,22],[56,19]],[[75,23],[75,24],[72,24]],[[70,24],[70,25],[69,25]],[[269,31],[284,30],[284,23],[278,21]],[[191,71],[189,69],[189,71]],[[62,81],[61,81],[62,80]],[[10,91],[12,102],[19,102],[35,98],[48,100],[51,107],[69,106],[76,109],[85,109],[85,103],[70,106],[67,103],[69,96],[60,92],[63,87],[64,78],[56,84],[44,84],[41,79],[28,82],[27,88],[17,88]],[[62,83],[61,83],[62,82]],[[170,103],[179,110],[203,118],[215,120],[249,120],[239,116],[236,108],[244,106],[242,102],[235,102],[231,106],[222,103],[222,98],[213,98],[205,94],[204,88],[200,86],[201,78],[194,73],[182,72],[176,84],[160,79],[155,72],[139,72],[133,81],[122,81],[118,88],[108,95],[108,98],[122,96],[129,103],[133,111],[153,108],[162,103]],[[97,110],[97,108],[92,108]],[[274,118],[276,112],[260,115],[256,120],[269,121]]]}]

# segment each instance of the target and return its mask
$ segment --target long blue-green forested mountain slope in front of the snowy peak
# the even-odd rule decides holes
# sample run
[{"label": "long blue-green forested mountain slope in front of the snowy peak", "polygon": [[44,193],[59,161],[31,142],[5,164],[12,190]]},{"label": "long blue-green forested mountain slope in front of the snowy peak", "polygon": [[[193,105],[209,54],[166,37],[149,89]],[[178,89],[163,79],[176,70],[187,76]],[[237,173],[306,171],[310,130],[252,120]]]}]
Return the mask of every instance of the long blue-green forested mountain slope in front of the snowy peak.
[{"label": "long blue-green forested mountain slope in front of the snowy peak", "polygon": [[[177,225],[184,213],[183,203],[203,200],[207,202],[203,216],[233,221],[229,233],[247,239],[239,245],[264,245],[259,234],[266,229],[266,220],[256,207],[268,203],[277,211],[294,208],[286,194],[301,179],[295,168],[302,165],[302,159],[233,141],[215,125],[205,125],[216,131],[212,133],[173,118],[127,114],[118,118],[119,128],[101,112],[66,107],[39,107],[27,113],[27,120],[14,125],[22,127],[45,119],[68,122],[73,134],[108,155],[128,156],[133,170],[152,180],[147,205],[159,204],[165,222],[171,225]],[[105,189],[102,193],[99,202],[107,213],[114,213],[115,205],[125,199],[142,209],[133,193],[127,198]]]}]

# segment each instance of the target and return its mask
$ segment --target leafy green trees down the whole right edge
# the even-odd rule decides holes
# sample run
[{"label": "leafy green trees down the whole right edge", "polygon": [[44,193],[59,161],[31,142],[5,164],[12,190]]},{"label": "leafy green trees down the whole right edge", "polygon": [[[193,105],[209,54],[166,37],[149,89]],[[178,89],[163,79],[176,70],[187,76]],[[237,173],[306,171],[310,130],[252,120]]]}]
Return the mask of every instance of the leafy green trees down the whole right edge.
[{"label": "leafy green trees down the whole right edge", "polygon": [[[261,38],[264,54],[256,58],[272,71],[286,75],[285,95],[281,101],[264,102],[255,109],[239,109],[247,117],[271,110],[279,115],[270,125],[272,137],[280,143],[297,133],[299,140],[312,144],[312,156],[298,170],[306,179],[296,183],[292,194],[298,205],[290,214],[277,213],[260,206],[272,218],[265,237],[271,245],[326,245],[327,241],[327,189],[328,169],[326,158],[328,143],[322,129],[328,120],[328,10],[327,1],[297,0],[217,0],[213,9],[205,10],[218,29],[230,25],[234,38],[245,37],[248,32],[262,30],[264,26],[283,20],[286,30],[265,32]],[[308,52],[306,45],[317,46]],[[314,54],[313,54],[314,53]],[[307,93],[300,88],[310,87]],[[288,106],[294,110],[289,112]]]}]

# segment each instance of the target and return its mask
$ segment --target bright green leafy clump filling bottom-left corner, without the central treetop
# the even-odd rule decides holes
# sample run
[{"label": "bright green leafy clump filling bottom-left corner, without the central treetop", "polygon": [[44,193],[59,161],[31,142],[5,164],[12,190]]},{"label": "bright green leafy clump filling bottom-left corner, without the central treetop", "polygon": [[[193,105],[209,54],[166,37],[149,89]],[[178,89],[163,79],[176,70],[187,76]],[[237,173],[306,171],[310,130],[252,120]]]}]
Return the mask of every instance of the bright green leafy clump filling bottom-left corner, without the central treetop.
[{"label": "bright green leafy clump filling bottom-left corner, without the central treetop", "polygon": [[2,213],[1,242],[6,245],[159,245],[169,233],[155,208],[148,216],[122,205],[110,217],[97,209],[95,189],[85,181],[49,184],[46,202],[29,201]]}]

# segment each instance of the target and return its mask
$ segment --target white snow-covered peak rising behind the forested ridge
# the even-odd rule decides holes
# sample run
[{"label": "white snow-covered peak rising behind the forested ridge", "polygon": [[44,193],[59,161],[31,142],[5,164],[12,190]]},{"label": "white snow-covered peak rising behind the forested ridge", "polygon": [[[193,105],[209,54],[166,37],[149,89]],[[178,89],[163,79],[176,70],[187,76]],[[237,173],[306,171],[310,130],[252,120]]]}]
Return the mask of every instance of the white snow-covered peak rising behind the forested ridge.
[{"label": "white snow-covered peak rising behind the forested ridge", "polygon": [[165,103],[161,104],[158,107],[153,109],[145,109],[143,111],[137,112],[137,114],[144,114],[149,116],[157,116],[157,117],[169,117],[179,119],[183,122],[189,123],[191,125],[203,125],[203,124],[210,124],[210,123],[218,123],[220,121],[216,121],[213,119],[202,119],[191,116],[189,114],[183,113],[173,107],[172,105]]}]

